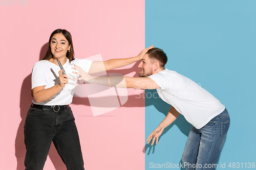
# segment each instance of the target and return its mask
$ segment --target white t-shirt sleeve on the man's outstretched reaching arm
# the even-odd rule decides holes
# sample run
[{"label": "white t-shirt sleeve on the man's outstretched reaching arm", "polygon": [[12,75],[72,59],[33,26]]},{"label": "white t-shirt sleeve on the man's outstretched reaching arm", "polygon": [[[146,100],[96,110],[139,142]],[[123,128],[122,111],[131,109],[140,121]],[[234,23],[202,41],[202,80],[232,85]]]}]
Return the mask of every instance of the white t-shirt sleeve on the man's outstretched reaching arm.
[{"label": "white t-shirt sleeve on the man's outstretched reaching arm", "polygon": [[151,78],[152,80],[154,80],[154,82],[156,82],[156,84],[159,85],[161,87],[161,89],[163,89],[163,90],[168,89],[168,86],[171,83],[169,80],[169,77],[164,74],[158,73],[158,74],[154,74],[154,75],[151,75],[148,77]]}]

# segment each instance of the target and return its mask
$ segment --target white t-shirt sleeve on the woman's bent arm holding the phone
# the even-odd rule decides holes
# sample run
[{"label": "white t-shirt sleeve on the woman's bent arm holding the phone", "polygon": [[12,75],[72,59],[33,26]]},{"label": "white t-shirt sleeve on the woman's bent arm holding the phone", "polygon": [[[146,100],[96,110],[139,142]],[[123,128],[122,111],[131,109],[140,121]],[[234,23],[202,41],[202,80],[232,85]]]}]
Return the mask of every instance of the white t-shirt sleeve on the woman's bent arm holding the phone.
[{"label": "white t-shirt sleeve on the woman's bent arm holding the phone", "polygon": [[33,67],[31,83],[32,83],[32,87],[31,87],[32,89],[34,87],[47,85],[47,80],[44,74],[44,70],[41,68],[40,64],[38,63],[35,63]]}]

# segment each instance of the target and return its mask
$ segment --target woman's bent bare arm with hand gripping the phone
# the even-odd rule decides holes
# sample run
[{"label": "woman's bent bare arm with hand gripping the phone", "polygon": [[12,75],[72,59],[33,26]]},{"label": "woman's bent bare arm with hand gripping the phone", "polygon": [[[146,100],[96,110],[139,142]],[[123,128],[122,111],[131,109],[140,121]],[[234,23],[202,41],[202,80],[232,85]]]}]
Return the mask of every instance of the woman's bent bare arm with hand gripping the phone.
[{"label": "woman's bent bare arm with hand gripping the phone", "polygon": [[59,71],[59,84],[51,88],[45,89],[45,86],[37,86],[32,89],[34,99],[37,103],[47,101],[57,94],[68,83],[69,76],[62,75],[62,70]]}]

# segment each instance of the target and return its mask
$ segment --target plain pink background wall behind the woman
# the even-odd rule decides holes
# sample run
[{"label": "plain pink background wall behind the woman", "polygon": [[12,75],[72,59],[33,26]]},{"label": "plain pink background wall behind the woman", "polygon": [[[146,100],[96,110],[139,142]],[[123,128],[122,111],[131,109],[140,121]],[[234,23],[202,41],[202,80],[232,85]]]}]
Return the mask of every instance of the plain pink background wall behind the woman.
[{"label": "plain pink background wall behind the woman", "polygon": [[[144,1],[27,1],[0,5],[1,155],[0,169],[25,169],[23,127],[31,97],[31,70],[46,52],[53,30],[71,32],[75,57],[101,54],[103,60],[132,57],[144,48]],[[5,60],[4,60],[5,59]],[[117,71],[138,71],[138,63]],[[127,70],[127,68],[131,68]],[[130,75],[136,75],[133,72]],[[120,108],[93,116],[88,98],[71,104],[79,131],[84,167],[144,169],[144,99],[128,89]],[[65,169],[51,146],[44,169]]]}]

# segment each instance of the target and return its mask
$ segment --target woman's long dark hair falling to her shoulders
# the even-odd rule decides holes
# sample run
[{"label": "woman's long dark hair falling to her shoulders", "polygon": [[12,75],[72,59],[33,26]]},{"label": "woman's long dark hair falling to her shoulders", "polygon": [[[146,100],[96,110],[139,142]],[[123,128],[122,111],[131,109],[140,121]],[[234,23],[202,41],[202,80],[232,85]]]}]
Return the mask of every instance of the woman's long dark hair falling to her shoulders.
[{"label": "woman's long dark hair falling to her shoulders", "polygon": [[69,42],[69,45],[71,45],[70,47],[70,52],[68,51],[66,54],[66,57],[69,59],[69,62],[73,61],[75,58],[75,53],[74,53],[74,48],[73,48],[73,42],[72,42],[72,36],[70,34],[70,32],[68,32],[67,30],[62,30],[62,29],[57,29],[54,30],[49,38],[49,42],[48,42],[48,50],[46,52],[46,55],[44,58],[42,58],[41,60],[50,60],[53,57],[53,54],[51,52],[51,40],[54,34],[58,34],[61,33]]}]

